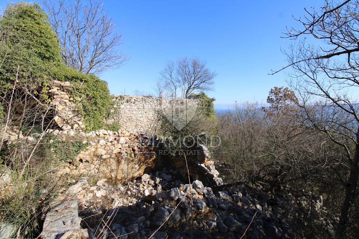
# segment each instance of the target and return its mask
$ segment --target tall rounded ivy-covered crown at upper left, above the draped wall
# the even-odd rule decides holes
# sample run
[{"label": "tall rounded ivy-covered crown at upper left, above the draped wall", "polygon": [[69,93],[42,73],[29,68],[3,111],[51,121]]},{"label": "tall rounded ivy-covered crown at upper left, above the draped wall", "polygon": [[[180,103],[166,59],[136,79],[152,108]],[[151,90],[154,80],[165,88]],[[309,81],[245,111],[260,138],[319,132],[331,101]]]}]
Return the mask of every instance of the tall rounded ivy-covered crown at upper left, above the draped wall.
[{"label": "tall rounded ivy-covered crown at upper left, above the draped wall", "polygon": [[60,46],[39,4],[9,4],[0,19],[0,29],[1,90],[11,88],[18,67],[20,82],[41,84],[48,70],[60,64]]}]

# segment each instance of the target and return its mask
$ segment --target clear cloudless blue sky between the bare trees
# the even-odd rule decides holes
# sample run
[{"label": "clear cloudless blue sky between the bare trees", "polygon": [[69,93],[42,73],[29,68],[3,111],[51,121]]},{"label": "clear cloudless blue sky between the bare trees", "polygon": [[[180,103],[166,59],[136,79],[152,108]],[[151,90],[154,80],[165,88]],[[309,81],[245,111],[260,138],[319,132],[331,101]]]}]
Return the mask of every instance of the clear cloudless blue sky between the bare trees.
[{"label": "clear cloudless blue sky between the bare trees", "polygon": [[[0,0],[4,8],[8,0]],[[286,27],[299,26],[323,0],[103,0],[123,34],[120,50],[130,60],[102,73],[111,94],[152,92],[154,79],[167,60],[196,56],[215,71],[216,107],[235,101],[265,101],[274,86],[286,86],[284,73],[268,75],[286,64],[280,48],[289,40]],[[222,105],[223,107],[223,105]]]}]

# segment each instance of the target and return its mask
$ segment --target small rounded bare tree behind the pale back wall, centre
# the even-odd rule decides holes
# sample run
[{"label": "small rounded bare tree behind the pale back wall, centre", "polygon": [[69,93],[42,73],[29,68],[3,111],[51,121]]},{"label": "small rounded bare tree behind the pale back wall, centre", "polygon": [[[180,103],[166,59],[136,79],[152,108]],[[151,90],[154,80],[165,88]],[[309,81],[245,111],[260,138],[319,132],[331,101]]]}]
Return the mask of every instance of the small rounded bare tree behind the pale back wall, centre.
[{"label": "small rounded bare tree behind the pale back wall, centre", "polygon": [[168,61],[160,72],[163,85],[172,97],[187,99],[195,91],[212,91],[217,74],[206,67],[207,62],[194,58]]}]

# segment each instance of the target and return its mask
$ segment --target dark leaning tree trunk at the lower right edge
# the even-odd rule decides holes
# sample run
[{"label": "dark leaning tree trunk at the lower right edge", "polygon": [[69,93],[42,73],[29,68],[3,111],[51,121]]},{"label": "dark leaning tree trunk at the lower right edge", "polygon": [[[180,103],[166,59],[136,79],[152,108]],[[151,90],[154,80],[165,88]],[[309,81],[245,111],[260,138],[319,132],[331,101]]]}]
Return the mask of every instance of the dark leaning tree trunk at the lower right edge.
[{"label": "dark leaning tree trunk at the lower right edge", "polygon": [[345,199],[341,207],[339,225],[337,228],[336,236],[337,238],[346,237],[346,229],[348,227],[349,221],[349,211],[351,206],[353,206],[356,198],[356,186],[358,185],[358,176],[359,176],[359,130],[356,137],[356,145],[353,161],[350,165],[350,175],[348,183],[345,185]]}]

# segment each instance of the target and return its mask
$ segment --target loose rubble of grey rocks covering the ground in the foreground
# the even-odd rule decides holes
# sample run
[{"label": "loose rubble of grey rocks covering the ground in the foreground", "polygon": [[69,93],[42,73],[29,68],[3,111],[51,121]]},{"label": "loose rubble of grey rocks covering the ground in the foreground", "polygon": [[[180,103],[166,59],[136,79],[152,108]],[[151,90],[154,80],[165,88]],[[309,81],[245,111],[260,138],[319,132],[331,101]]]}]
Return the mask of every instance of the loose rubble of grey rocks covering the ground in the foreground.
[{"label": "loose rubble of grey rocks covering the ground in the foreground", "polygon": [[103,239],[179,239],[192,233],[193,238],[289,238],[287,201],[258,188],[214,191],[180,178],[178,171],[163,169],[116,187],[80,181],[81,227],[89,238]]}]

